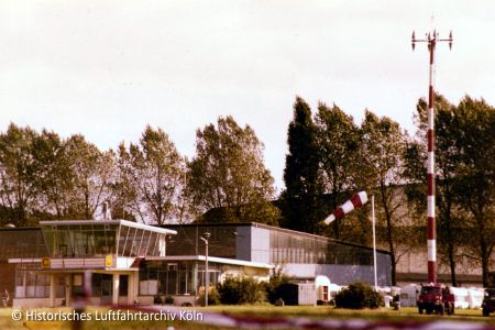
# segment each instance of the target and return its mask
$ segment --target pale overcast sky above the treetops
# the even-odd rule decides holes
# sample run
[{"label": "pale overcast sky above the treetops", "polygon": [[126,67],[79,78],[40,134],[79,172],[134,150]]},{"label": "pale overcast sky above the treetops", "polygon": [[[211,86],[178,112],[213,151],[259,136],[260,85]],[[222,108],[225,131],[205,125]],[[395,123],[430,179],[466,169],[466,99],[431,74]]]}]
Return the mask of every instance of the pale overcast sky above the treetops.
[{"label": "pale overcast sky above the treetops", "polygon": [[10,122],[84,134],[101,150],[161,127],[184,155],[195,131],[232,114],[265,144],[278,189],[296,95],[365,108],[414,132],[428,91],[495,105],[495,1],[0,1],[0,131]]}]

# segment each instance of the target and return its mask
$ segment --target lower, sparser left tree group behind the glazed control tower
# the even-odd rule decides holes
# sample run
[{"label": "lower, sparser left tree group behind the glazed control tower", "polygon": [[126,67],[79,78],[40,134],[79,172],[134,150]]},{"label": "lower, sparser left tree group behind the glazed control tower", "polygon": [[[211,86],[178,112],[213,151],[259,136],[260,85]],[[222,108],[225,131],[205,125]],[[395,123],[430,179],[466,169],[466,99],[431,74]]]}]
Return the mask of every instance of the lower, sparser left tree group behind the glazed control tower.
[{"label": "lower, sparser left tree group behind the glazed control tower", "polygon": [[273,178],[263,144],[249,127],[219,118],[196,133],[188,161],[162,129],[147,125],[138,143],[100,151],[80,134],[11,123],[0,134],[0,223],[114,218],[144,223],[188,222],[210,209],[226,221],[276,224]]}]

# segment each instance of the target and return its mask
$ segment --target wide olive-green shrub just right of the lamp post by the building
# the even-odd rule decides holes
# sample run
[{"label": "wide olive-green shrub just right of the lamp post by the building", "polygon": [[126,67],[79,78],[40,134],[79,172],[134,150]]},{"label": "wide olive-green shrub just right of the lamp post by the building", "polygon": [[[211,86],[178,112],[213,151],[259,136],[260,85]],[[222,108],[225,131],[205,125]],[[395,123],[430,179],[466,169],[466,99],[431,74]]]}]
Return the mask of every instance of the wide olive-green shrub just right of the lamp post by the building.
[{"label": "wide olive-green shrub just right of the lamp post by the building", "polygon": [[226,305],[258,304],[266,300],[263,283],[252,277],[227,277],[218,285],[220,301]]}]

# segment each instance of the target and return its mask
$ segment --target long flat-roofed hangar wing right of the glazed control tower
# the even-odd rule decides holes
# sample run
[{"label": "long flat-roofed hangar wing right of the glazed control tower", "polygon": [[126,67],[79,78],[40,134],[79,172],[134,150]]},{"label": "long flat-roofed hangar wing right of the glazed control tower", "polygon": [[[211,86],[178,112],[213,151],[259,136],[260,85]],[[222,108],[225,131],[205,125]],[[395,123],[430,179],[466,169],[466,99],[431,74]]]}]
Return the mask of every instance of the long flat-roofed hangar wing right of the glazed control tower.
[{"label": "long flat-roofed hangar wing right of the glazed control tower", "polygon": [[[373,249],[262,223],[168,224],[177,234],[167,257],[200,255],[200,237],[209,232],[210,255],[270,264],[294,279],[324,275],[334,284],[374,283]],[[377,250],[378,285],[391,285],[391,255]]]}]

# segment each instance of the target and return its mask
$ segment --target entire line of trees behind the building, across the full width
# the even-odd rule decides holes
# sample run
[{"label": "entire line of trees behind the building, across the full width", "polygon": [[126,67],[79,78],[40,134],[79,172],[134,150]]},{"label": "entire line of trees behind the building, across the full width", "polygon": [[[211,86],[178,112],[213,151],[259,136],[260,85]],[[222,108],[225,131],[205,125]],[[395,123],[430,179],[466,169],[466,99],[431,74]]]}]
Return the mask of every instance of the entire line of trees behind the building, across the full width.
[{"label": "entire line of trees behind the building, across the full width", "polygon": [[[495,244],[494,108],[464,97],[436,96],[437,221],[439,254],[455,285],[455,263],[480,264],[488,280]],[[264,166],[263,143],[232,117],[196,132],[187,160],[160,128],[100,151],[75,134],[63,139],[11,123],[0,133],[0,223],[46,219],[113,218],[145,223],[263,222],[369,244],[370,207],[331,226],[328,213],[359,190],[374,195],[381,245],[395,270],[404,246],[426,238],[426,111],[418,100],[417,134],[365,110],[360,124],[338,106],[312,113],[297,97],[287,130],[285,189],[276,196]]]}]

